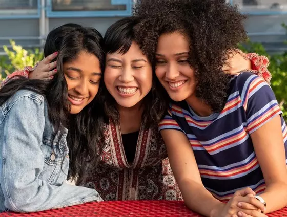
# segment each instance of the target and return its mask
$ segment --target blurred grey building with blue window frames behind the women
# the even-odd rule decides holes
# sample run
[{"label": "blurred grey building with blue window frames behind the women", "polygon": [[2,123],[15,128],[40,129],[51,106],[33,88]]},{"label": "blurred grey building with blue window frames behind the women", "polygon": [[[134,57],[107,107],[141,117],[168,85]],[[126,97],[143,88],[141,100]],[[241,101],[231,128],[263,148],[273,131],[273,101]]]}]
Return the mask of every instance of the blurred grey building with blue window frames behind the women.
[{"label": "blurred grey building with blue window frames behind the women", "polygon": [[[156,1],[156,0],[154,0]],[[204,1],[204,0],[202,0]],[[249,14],[250,39],[270,52],[286,51],[287,0],[229,0]],[[132,15],[133,0],[0,0],[0,55],[9,39],[24,48],[43,47],[47,33],[65,23],[92,26],[102,34],[121,17]]]}]

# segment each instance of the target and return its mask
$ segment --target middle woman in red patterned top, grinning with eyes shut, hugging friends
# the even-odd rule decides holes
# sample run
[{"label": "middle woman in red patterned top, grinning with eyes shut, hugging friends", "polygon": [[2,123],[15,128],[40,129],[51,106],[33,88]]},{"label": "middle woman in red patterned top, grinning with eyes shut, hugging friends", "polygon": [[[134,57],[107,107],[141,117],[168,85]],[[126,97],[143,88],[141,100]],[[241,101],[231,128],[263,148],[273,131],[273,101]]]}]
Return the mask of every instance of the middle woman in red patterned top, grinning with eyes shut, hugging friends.
[{"label": "middle woman in red patterned top, grinning with eyes shut, hugging friends", "polygon": [[[76,184],[96,189],[104,200],[180,200],[157,126],[167,104],[153,76],[152,55],[142,53],[134,36],[139,21],[123,18],[105,34],[107,61],[100,98],[107,120],[101,127],[103,138],[95,144],[100,161],[96,167],[89,166],[84,183]],[[234,73],[250,69],[255,61],[237,54],[227,62],[230,66],[224,70]],[[29,77],[51,75],[52,64],[44,59]]]}]

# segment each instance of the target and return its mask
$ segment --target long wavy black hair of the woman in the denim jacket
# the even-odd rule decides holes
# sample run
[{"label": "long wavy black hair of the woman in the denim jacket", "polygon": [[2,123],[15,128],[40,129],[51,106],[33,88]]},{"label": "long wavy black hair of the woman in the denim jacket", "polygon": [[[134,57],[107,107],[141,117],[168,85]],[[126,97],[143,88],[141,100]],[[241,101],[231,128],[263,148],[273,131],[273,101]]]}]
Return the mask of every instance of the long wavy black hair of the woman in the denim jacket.
[{"label": "long wavy black hair of the woman in the denim jacket", "polygon": [[[84,50],[99,59],[101,70],[104,71],[106,55],[103,46],[103,37],[94,28],[77,24],[60,26],[48,34],[44,48],[45,56],[58,51],[58,73],[55,78],[49,82],[22,77],[11,80],[0,90],[0,105],[20,89],[34,91],[46,98],[49,119],[54,127],[53,140],[57,132],[63,135],[64,127],[68,128],[67,143],[70,157],[68,178],[76,178],[77,184],[83,183],[87,177],[87,163],[94,166],[97,164],[96,144],[101,137],[103,109],[95,97],[80,113],[73,115],[69,113],[68,88],[63,64],[73,61]],[[100,91],[101,86],[98,93]]]}]

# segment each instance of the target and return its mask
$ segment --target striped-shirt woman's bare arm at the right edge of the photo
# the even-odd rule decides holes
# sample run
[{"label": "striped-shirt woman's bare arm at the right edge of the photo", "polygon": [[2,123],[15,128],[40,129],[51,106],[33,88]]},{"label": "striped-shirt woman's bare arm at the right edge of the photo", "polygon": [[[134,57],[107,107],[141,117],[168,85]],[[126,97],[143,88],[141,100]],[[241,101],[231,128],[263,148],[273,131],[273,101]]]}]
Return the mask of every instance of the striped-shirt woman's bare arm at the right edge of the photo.
[{"label": "striped-shirt woman's bare arm at the right edge of the photo", "polygon": [[287,168],[279,115],[251,134],[255,153],[266,184],[260,196],[267,203],[266,212],[287,206]]}]

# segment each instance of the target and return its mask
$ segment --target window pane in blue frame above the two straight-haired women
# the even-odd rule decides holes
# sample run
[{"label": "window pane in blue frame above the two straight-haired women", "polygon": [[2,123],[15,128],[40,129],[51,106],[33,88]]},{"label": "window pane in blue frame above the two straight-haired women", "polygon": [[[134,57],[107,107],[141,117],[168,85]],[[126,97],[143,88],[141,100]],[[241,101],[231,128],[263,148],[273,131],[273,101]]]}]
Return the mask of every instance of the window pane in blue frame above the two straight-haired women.
[{"label": "window pane in blue frame above the two straight-haired women", "polygon": [[126,5],[112,5],[110,0],[53,0],[53,11],[114,11],[126,10]]}]

